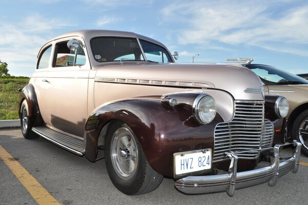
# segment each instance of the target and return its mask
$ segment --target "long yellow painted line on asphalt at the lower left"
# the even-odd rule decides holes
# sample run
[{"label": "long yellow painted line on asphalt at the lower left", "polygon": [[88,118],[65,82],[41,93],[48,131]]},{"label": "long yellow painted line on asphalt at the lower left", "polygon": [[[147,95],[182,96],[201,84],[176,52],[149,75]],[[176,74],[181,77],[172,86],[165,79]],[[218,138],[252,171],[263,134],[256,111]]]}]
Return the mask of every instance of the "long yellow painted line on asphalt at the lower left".
[{"label": "long yellow painted line on asphalt at the lower left", "polygon": [[60,204],[18,161],[0,145],[0,158],[38,204]]}]

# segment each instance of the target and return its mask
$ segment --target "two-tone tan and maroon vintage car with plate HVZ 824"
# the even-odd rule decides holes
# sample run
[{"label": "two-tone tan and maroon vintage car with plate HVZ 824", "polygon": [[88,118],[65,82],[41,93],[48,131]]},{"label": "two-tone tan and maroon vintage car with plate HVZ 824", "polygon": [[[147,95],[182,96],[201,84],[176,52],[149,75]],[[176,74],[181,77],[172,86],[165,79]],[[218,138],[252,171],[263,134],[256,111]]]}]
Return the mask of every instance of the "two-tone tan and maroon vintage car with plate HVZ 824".
[{"label": "two-tone tan and maroon vintage car with plate HVZ 824", "polygon": [[[301,144],[286,142],[286,98],[264,95],[242,66],[174,58],[131,32],[81,30],[49,40],[20,94],[24,137],[92,162],[105,157],[113,185],[127,195],[151,192],[166,176],[183,193],[233,196],[297,172]],[[282,148],[290,154],[281,157]]]}]

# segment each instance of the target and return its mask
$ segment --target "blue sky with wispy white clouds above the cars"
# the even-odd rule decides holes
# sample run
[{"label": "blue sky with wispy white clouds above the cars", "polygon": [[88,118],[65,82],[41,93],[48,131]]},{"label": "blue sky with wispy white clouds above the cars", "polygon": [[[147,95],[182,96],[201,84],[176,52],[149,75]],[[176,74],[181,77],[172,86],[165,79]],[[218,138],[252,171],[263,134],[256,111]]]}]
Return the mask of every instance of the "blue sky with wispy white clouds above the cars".
[{"label": "blue sky with wispy white clouds above the cars", "polygon": [[308,73],[307,0],[14,0],[2,1],[0,60],[9,74],[31,76],[37,52],[73,30],[131,31],[163,43],[177,63],[256,64]]}]

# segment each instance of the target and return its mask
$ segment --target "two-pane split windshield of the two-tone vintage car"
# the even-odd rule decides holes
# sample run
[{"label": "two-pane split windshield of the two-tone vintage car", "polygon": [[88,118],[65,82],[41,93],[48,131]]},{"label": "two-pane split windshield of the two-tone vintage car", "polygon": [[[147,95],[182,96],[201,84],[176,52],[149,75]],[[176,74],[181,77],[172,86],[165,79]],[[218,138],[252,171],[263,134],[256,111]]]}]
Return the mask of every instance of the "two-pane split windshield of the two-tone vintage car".
[{"label": "two-pane split windshield of the two-tone vintage car", "polygon": [[[155,44],[140,40],[148,61],[170,63],[168,52]],[[137,38],[97,37],[91,39],[93,56],[98,62],[145,60]]]}]

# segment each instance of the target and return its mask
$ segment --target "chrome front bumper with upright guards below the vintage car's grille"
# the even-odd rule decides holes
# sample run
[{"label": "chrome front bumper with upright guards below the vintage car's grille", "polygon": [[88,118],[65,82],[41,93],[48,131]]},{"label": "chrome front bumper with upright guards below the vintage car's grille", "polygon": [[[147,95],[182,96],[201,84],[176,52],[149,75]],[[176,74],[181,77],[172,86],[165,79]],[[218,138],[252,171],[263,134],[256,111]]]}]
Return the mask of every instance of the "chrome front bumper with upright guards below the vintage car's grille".
[{"label": "chrome front bumper with upright guards below the vintage car's grille", "polygon": [[[279,156],[280,148],[288,145],[295,147],[292,157]],[[226,191],[229,196],[234,196],[236,189],[259,185],[268,181],[268,186],[275,186],[278,177],[281,177],[292,170],[298,171],[301,144],[297,141],[276,145],[274,148],[262,150],[272,150],[271,166],[245,172],[237,172],[237,153],[226,152],[225,157],[230,158],[230,166],[227,174],[210,176],[188,176],[176,181],[176,188],[186,194],[205,194]],[[256,150],[254,150],[256,151]]]}]

